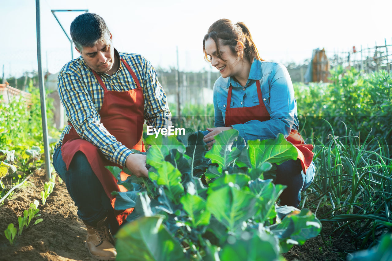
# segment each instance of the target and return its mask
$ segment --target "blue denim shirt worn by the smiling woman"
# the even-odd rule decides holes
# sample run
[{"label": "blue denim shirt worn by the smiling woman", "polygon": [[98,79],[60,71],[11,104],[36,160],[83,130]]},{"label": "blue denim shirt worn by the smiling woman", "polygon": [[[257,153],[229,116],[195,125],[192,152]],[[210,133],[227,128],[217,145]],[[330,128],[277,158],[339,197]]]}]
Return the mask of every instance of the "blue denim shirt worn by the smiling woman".
[{"label": "blue denim shirt worn by the smiling woman", "polygon": [[286,67],[281,63],[254,60],[245,87],[233,77],[219,77],[214,84],[215,127],[225,126],[227,94],[230,83],[232,94],[230,108],[252,107],[259,104],[256,81],[260,81],[261,94],[270,120],[251,120],[231,125],[245,141],[276,138],[279,133],[289,136],[291,129],[298,130],[297,101]]}]

